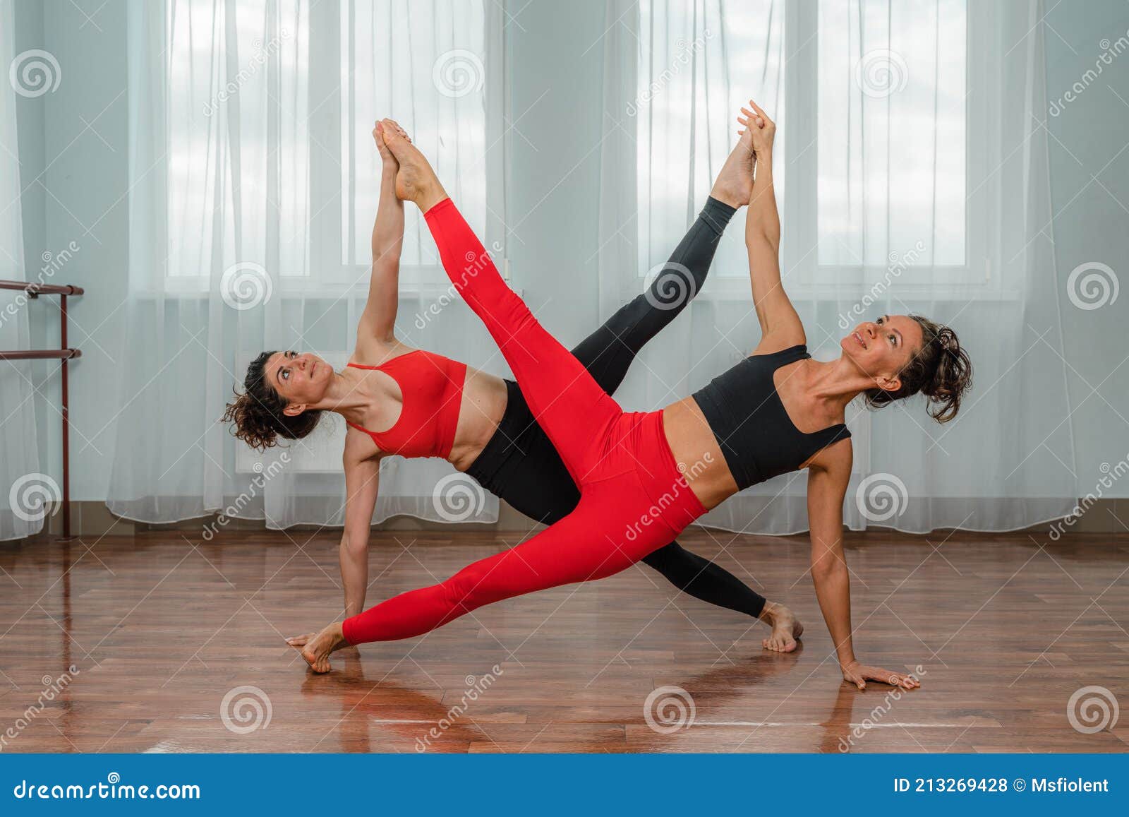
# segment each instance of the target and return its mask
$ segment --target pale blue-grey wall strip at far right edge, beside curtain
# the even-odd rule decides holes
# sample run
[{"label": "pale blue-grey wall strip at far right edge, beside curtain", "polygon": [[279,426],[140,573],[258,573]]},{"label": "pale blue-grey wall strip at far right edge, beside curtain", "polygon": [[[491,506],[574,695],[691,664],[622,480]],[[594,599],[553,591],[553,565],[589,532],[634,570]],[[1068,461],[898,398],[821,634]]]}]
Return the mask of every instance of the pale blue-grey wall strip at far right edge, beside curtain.
[{"label": "pale blue-grey wall strip at far right edge, beside curtain", "polygon": [[[1129,38],[1129,3],[1059,3],[1047,23],[1047,96],[1058,99],[1085,82],[1104,47]],[[1110,41],[1104,47],[1103,40]],[[1062,302],[1078,490],[1085,495],[1102,476],[1101,463],[1129,455],[1129,51],[1103,66],[1062,113],[1047,116],[1047,127],[1062,292],[1070,271],[1087,261],[1112,267],[1121,285],[1117,302],[1099,310]],[[1114,494],[1129,496],[1129,485],[1115,485]]]}]

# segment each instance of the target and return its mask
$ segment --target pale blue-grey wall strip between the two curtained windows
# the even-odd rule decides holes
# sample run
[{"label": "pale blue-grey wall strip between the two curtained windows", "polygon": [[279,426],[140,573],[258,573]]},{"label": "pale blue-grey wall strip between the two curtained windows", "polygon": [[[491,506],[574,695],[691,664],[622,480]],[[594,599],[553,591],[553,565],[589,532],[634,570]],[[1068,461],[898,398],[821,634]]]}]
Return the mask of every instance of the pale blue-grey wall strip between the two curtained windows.
[{"label": "pale blue-grey wall strip between the two curtained windows", "polygon": [[571,347],[599,319],[604,3],[511,0],[507,8],[507,255],[530,306]]}]

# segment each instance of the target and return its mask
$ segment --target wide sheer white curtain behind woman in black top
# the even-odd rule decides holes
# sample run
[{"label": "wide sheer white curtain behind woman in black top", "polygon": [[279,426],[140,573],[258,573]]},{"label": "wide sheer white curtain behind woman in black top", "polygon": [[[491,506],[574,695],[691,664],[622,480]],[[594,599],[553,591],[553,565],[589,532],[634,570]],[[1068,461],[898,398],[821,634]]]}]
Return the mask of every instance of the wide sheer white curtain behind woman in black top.
[{"label": "wide sheer white curtain behind woman in black top", "polygon": [[[920,399],[852,405],[847,523],[1008,530],[1077,496],[1052,237],[1038,0],[610,3],[601,312],[639,292],[701,207],[755,98],[779,123],[785,286],[817,358],[859,320],[951,323],[975,386],[959,418]],[[623,191],[633,191],[624,194]],[[755,346],[734,218],[710,279],[620,392],[653,408]],[[807,528],[806,479],[753,486],[703,518]]]}]

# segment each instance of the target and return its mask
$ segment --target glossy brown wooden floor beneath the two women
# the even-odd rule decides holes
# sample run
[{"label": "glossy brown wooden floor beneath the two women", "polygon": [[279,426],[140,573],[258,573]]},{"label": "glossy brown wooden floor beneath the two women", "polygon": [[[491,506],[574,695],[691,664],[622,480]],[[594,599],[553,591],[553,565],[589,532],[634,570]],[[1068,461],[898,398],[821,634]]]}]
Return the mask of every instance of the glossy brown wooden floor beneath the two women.
[{"label": "glossy brown wooden floor beneath the two women", "polygon": [[[374,533],[369,602],[517,538]],[[339,653],[332,673],[313,676],[282,637],[338,615],[334,533],[0,544],[2,750],[1129,745],[1129,713],[1095,733],[1067,714],[1083,687],[1129,704],[1129,534],[1077,534],[1044,547],[1026,534],[851,537],[858,654],[924,669],[922,688],[900,696],[841,683],[805,574],[806,539],[699,531],[682,541],[791,606],[807,625],[802,647],[763,652],[764,625],[679,596],[637,566],[479,610],[422,638]],[[71,666],[71,678],[61,678]],[[651,728],[646,702],[666,686],[680,689],[659,693],[651,711],[674,721],[653,718]],[[1082,698],[1093,695],[1105,693]],[[1082,709],[1083,718],[1094,712]]]}]

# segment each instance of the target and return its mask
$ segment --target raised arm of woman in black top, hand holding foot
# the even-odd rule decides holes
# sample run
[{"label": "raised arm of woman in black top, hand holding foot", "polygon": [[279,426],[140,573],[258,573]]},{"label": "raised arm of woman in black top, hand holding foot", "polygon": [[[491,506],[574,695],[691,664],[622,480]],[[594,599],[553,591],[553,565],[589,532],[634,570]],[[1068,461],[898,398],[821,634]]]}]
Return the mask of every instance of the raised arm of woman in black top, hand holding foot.
[{"label": "raised arm of woman in black top, hand holding foot", "polygon": [[745,247],[749,276],[753,285],[753,305],[761,323],[758,351],[779,351],[806,342],[804,324],[780,281],[780,216],[777,212],[772,180],[772,141],[776,124],[755,103],[753,111],[742,108],[745,125],[742,139],[755,155],[756,175],[745,217]]}]

